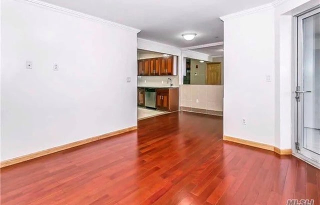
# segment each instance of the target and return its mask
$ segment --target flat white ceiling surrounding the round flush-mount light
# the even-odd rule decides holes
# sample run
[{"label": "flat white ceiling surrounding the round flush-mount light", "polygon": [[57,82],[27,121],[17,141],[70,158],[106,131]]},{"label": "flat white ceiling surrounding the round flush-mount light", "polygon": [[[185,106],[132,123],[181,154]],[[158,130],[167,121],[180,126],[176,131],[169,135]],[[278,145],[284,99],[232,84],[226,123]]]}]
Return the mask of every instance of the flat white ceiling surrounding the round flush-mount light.
[{"label": "flat white ceiling surrounding the round flush-mount light", "polygon": [[[188,47],[223,41],[223,23],[218,17],[273,0],[43,1],[141,29],[141,38]],[[186,41],[181,37],[186,32],[196,32],[197,36]]]}]

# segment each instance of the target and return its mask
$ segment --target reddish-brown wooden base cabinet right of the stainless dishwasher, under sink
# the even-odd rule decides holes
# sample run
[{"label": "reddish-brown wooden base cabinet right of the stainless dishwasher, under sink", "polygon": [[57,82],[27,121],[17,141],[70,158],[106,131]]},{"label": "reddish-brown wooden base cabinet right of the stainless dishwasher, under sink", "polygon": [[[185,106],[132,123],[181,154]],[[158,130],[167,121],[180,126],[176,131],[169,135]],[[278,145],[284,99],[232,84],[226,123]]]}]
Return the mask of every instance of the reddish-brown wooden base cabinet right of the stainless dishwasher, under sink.
[{"label": "reddish-brown wooden base cabinet right of the stainless dishwasher, under sink", "polygon": [[179,88],[157,88],[156,108],[165,111],[178,110]]}]

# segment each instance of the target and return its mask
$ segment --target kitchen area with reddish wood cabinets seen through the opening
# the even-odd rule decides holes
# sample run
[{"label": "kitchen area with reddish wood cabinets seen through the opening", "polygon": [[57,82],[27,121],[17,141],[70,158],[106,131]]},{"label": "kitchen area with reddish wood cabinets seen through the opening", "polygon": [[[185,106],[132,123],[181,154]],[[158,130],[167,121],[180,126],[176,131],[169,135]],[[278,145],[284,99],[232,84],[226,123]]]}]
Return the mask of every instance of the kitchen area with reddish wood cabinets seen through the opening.
[{"label": "kitchen area with reddish wood cabinets seen through the opening", "polygon": [[179,109],[178,57],[137,50],[137,118],[145,119]]}]

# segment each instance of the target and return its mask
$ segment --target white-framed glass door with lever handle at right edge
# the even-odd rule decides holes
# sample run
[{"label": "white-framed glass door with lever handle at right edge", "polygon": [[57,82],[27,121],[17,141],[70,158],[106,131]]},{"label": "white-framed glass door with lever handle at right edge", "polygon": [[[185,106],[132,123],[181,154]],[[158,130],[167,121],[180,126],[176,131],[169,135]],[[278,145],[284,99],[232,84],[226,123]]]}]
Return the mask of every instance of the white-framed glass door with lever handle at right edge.
[{"label": "white-framed glass door with lever handle at right edge", "polygon": [[297,152],[320,165],[320,8],[298,16]]}]

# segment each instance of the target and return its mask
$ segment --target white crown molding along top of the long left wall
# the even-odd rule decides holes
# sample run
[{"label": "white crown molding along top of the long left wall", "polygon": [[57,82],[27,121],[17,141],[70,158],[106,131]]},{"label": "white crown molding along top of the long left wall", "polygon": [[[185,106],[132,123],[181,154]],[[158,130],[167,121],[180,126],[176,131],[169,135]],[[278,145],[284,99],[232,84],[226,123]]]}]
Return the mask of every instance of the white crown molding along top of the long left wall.
[{"label": "white crown molding along top of the long left wall", "polygon": [[24,1],[24,2],[30,3],[32,5],[36,5],[38,7],[44,7],[44,8],[48,8],[50,10],[57,11],[57,12],[60,12],[60,13],[64,13],[64,14],[75,16],[75,17],[92,20],[92,21],[95,21],[95,22],[104,23],[104,24],[107,24],[107,25],[111,25],[111,26],[115,26],[115,27],[121,28],[123,30],[131,31],[131,32],[135,32],[135,33],[140,32],[139,29],[136,29],[136,28],[133,28],[133,27],[130,27],[130,26],[122,25],[122,24],[119,24],[119,23],[116,23],[116,22],[105,20],[105,19],[102,19],[102,18],[99,18],[99,17],[95,17],[93,15],[89,15],[89,14],[85,14],[85,13],[82,13],[82,12],[74,11],[74,10],[71,10],[71,9],[68,9],[68,8],[64,8],[64,7],[60,7],[60,6],[57,6],[57,5],[53,5],[51,3],[46,3],[46,2],[43,2],[43,1],[40,1],[40,0],[17,0],[17,1]]}]

